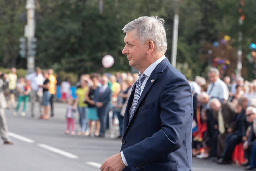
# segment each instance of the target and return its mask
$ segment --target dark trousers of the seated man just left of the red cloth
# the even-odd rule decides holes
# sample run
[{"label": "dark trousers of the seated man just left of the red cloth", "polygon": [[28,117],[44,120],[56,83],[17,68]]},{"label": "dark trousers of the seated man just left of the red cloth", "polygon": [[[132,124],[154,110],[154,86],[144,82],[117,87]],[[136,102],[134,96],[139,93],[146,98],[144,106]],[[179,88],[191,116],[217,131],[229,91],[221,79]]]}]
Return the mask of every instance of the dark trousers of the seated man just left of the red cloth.
[{"label": "dark trousers of the seated man just left of the red cloth", "polygon": [[225,147],[222,153],[224,160],[232,160],[232,153],[235,149],[235,146],[242,142],[242,134],[233,133],[229,134],[225,138]]}]

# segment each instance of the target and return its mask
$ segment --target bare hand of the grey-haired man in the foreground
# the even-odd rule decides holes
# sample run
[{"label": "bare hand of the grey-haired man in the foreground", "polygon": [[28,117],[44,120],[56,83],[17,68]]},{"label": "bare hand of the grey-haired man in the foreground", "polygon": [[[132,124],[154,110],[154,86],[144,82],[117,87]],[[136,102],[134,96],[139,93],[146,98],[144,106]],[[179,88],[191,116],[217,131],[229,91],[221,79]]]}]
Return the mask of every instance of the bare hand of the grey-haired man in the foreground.
[{"label": "bare hand of the grey-haired man in the foreground", "polygon": [[100,167],[101,171],[121,171],[125,168],[121,154],[109,157]]}]

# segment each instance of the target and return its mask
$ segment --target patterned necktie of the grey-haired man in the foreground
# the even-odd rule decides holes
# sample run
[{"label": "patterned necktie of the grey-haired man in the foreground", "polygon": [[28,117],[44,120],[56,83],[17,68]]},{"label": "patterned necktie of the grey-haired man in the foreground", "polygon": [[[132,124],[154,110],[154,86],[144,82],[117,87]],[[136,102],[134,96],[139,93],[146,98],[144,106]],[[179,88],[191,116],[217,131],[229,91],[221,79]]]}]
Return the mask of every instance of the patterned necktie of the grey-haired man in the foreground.
[{"label": "patterned necktie of the grey-haired man in the foreground", "polygon": [[146,78],[145,74],[140,74],[139,78],[137,80],[136,88],[135,88],[135,92],[134,92],[134,97],[133,97],[133,103],[132,103],[131,110],[130,110],[129,122],[132,119],[132,116],[134,114],[134,110],[135,110],[135,108],[137,106],[137,103],[139,101],[139,96],[140,96],[140,91],[141,91],[141,84],[145,80],[145,78]]}]

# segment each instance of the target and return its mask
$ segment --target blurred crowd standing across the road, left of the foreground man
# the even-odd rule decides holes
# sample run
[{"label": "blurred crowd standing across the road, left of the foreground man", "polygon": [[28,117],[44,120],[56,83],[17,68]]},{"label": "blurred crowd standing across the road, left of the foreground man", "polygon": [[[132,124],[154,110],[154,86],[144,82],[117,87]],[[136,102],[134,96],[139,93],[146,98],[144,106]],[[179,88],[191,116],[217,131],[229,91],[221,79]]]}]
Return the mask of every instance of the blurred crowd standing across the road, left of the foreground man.
[{"label": "blurred crowd standing across the road, left of the foreground man", "polygon": [[[52,69],[42,71],[36,67],[35,72],[18,78],[16,69],[12,68],[11,72],[5,76],[6,78],[4,77],[2,80],[6,83],[6,86],[3,86],[3,92],[7,99],[6,107],[14,110],[14,116],[26,115],[29,100],[31,102],[31,117],[48,120],[50,116],[54,116],[57,80]],[[114,123],[114,118],[118,118],[120,132],[117,138],[121,138],[127,97],[129,97],[131,87],[137,78],[137,74],[132,75],[131,73],[82,74],[77,83],[76,98],[72,96],[71,85],[69,79],[66,78],[59,84],[62,102],[67,103],[65,133],[90,136],[93,134],[95,125],[94,136],[104,137],[109,123]],[[17,105],[15,99],[17,99]],[[22,102],[24,103],[23,108],[19,113]],[[35,110],[36,102],[39,104],[37,111]],[[111,118],[113,121],[109,121],[110,111],[113,113]],[[79,129],[76,132],[75,117],[77,113]]]}]

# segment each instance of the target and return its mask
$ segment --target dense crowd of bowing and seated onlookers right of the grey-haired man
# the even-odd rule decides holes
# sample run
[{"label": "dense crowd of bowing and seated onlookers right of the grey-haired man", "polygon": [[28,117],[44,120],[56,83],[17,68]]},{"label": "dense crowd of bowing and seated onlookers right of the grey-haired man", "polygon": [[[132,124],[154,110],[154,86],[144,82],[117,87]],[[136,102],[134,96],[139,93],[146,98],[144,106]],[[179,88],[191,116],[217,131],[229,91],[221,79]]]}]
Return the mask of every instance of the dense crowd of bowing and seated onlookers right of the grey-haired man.
[{"label": "dense crowd of bowing and seated onlookers right of the grey-haired man", "polygon": [[256,80],[225,76],[222,81],[219,76],[219,70],[212,68],[209,84],[200,76],[190,81],[192,155],[200,159],[212,156],[218,164],[236,162],[252,170],[256,168]]}]

